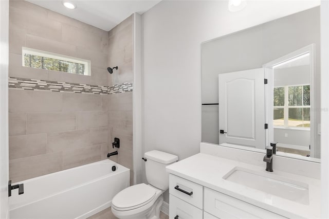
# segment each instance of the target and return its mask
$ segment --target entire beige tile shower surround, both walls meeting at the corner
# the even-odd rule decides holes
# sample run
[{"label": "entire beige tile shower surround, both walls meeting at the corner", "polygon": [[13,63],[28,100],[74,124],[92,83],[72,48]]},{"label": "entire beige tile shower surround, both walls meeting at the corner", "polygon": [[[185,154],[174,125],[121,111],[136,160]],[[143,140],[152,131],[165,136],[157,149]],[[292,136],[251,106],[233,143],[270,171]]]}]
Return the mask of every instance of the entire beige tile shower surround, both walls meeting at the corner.
[{"label": "entire beige tile shower surround, both walls meeting at the corner", "polygon": [[[106,32],[10,1],[9,31],[13,182],[106,159],[114,137],[121,147],[113,159],[132,170],[133,16]],[[22,46],[91,60],[92,76],[23,67]]]}]

